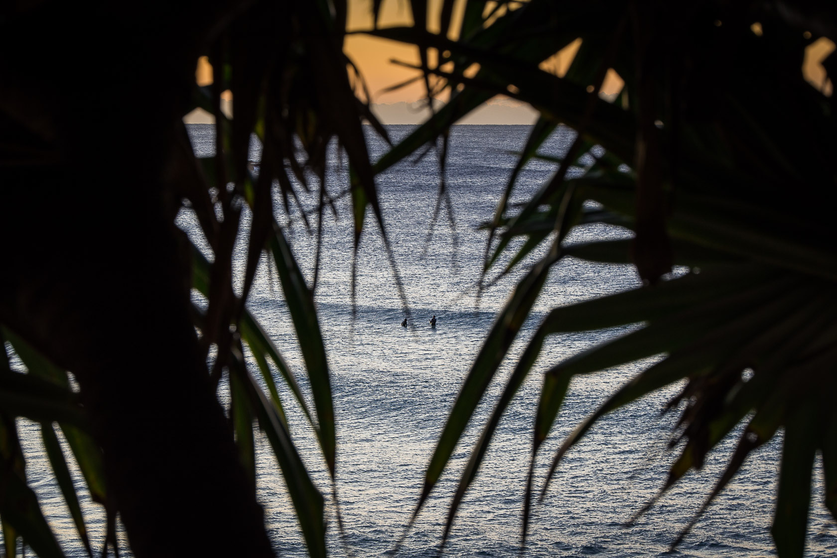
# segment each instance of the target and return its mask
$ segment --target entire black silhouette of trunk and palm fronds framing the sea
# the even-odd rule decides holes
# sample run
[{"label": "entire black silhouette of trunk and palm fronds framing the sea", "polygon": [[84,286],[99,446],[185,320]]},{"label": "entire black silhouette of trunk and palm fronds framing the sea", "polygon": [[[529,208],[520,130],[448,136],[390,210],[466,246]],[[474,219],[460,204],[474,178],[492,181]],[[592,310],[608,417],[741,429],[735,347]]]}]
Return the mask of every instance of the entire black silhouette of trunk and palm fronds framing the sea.
[{"label": "entire black silhouette of trunk and palm fronds framing the sea", "polygon": [[[370,33],[419,46],[429,95],[449,88],[449,103],[374,164],[362,123],[385,138],[386,131],[353,90],[357,72],[342,52],[345,0],[45,1],[3,8],[0,323],[3,340],[28,370],[11,371],[6,351],[0,353],[0,517],[8,555],[18,537],[41,556],[62,555],[28,487],[15,417],[41,423],[55,478],[91,555],[56,427],[92,498],[105,508],[105,552],[116,544],[118,514],[137,556],[271,555],[255,500],[256,422],[285,477],[309,554],[326,555],[324,497],[290,439],[276,388],[284,382],[299,402],[333,481],[337,440],[313,301],[317,271],[309,286],[275,218],[271,189],[278,184],[285,212],[298,203],[296,188],[315,189],[321,213],[339,195],[326,187],[326,147],[336,141],[350,166],[345,187],[355,249],[367,208],[388,247],[377,173],[437,144],[444,165],[449,127],[494,95],[525,101],[540,118],[486,223],[485,285],[490,274],[507,274],[538,246],[547,255],[526,271],[487,336],[430,459],[416,514],[550,269],[567,255],[634,263],[645,284],[555,308],[543,320],[470,453],[443,545],[494,429],[547,335],[624,324],[642,326],[553,363],[545,374],[532,463],[573,376],[665,358],[578,425],[554,453],[547,479],[536,479],[530,468],[521,487],[524,539],[537,484],[543,494],[563,455],[599,417],[684,380],[670,403],[681,413],[671,447],[683,444],[662,491],[700,468],[706,453],[744,421],[706,505],[753,449],[783,429],[773,522],[779,555],[804,551],[818,451],[826,504],[837,513],[837,254],[824,199],[834,187],[834,97],[801,72],[809,44],[837,39],[834,10],[781,1],[466,0],[464,17],[454,21],[454,2],[443,0],[442,33],[429,33],[428,3],[410,7],[413,27]],[[372,3],[378,8],[380,2]],[[578,38],[566,74],[540,69]],[[201,55],[215,69],[213,84],[203,88],[194,84]],[[834,59],[824,62],[830,76]],[[598,95],[608,69],[624,79],[613,102]],[[233,119],[220,110],[225,90],[234,95]],[[199,161],[182,124],[182,115],[197,106],[215,115],[217,132],[216,155]],[[126,115],[134,121],[131,134],[121,133]],[[578,131],[573,146],[537,194],[511,210],[506,202],[517,171],[532,157],[554,156],[540,150],[559,124]],[[248,161],[252,133],[263,147],[258,173]],[[583,174],[568,178],[571,166]],[[446,196],[442,186],[439,194]],[[184,200],[212,261],[173,224]],[[598,208],[585,207],[587,200]],[[252,222],[239,296],[232,254],[245,205]],[[634,238],[565,241],[573,227],[587,223],[630,228]],[[496,270],[514,238],[525,242]],[[300,340],[311,408],[246,308],[263,253],[270,254]],[[685,267],[672,274],[675,265]],[[206,297],[205,310],[193,305],[190,289]],[[244,345],[266,391],[244,361]],[[752,377],[742,376],[745,369]],[[229,416],[215,393],[222,379],[229,381]]]}]

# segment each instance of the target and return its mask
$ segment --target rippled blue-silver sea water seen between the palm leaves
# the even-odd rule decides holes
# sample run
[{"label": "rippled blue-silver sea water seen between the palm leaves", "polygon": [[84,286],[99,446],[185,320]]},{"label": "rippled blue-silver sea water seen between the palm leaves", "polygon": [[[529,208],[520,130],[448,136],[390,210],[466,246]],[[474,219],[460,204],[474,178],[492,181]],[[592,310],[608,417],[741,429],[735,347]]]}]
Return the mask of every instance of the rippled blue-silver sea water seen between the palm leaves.
[{"label": "rippled blue-silver sea water seen between the palm leaves", "polygon": [[[393,139],[408,133],[408,126],[392,126]],[[319,318],[331,366],[337,421],[337,485],[346,527],[347,545],[357,556],[383,555],[401,535],[421,489],[424,467],[444,424],[449,407],[470,363],[501,309],[514,279],[496,285],[475,308],[473,285],[485,248],[486,233],[476,226],[493,215],[501,188],[511,171],[514,156],[526,138],[525,126],[458,126],[451,138],[447,182],[453,197],[458,250],[443,212],[434,229],[427,253],[424,243],[433,215],[438,188],[438,167],[430,153],[417,164],[404,163],[380,178],[381,205],[395,260],[407,290],[413,321],[399,324],[403,311],[393,284],[393,274],[372,216],[358,253],[357,317],[352,319],[350,277],[352,223],[347,200],[338,202],[338,218],[326,212],[320,284],[316,291]],[[190,127],[199,156],[212,152],[209,126]],[[570,134],[559,131],[545,151],[560,154]],[[373,142],[373,156],[384,146]],[[258,151],[255,149],[255,151]],[[255,152],[254,152],[255,156]],[[554,169],[533,161],[521,174],[512,202],[521,201]],[[329,174],[332,193],[344,187],[345,168],[334,166]],[[277,200],[278,201],[278,200]],[[314,200],[303,198],[306,207]],[[315,218],[316,219],[316,218]],[[245,222],[247,216],[245,216]],[[198,226],[187,210],[178,224],[202,243]],[[290,238],[296,257],[312,276],[315,243],[301,225],[298,212],[290,218]],[[588,227],[573,233],[573,240],[624,235],[617,228]],[[242,239],[239,239],[242,240]],[[239,243],[239,249],[241,244]],[[239,278],[244,260],[239,251]],[[546,311],[580,299],[629,289],[638,284],[629,266],[613,267],[567,259],[552,271],[547,288],[531,319],[511,351],[516,360]],[[274,338],[295,370],[303,368],[295,333],[264,265],[249,297],[249,308]],[[436,315],[436,329],[428,320]],[[541,374],[548,366],[628,330],[619,328],[582,335],[562,335],[547,340],[535,371],[512,402],[498,427],[495,442],[480,474],[465,496],[446,550],[448,555],[516,556],[519,545],[521,493],[528,465],[533,411]],[[647,366],[638,362],[573,381],[552,438],[542,450],[537,473],[543,478],[560,439],[604,397],[632,374]],[[511,368],[501,369],[500,381],[490,388],[493,401]],[[306,389],[305,381],[301,381]],[[308,432],[290,394],[283,392],[290,412],[295,440],[316,482],[324,492],[329,484],[316,443]],[[665,553],[680,527],[685,525],[711,489],[732,449],[728,439],[707,459],[704,470],[690,474],[634,526],[621,526],[660,487],[673,456],[665,451],[667,434],[675,416],[662,417],[660,409],[671,392],[658,392],[606,417],[567,455],[544,503],[533,516],[527,555],[540,556],[649,556]],[[222,391],[222,398],[225,394]],[[480,406],[476,427],[471,427],[448,470],[419,515],[403,547],[404,556],[433,556],[441,535],[447,506],[461,468],[479,427],[491,405]],[[69,555],[82,555],[74,528],[60,495],[39,453],[33,425],[21,421],[25,436],[28,473],[59,532]],[[696,529],[680,545],[685,556],[763,556],[774,554],[770,539],[778,452],[774,440],[755,453],[712,504]],[[285,494],[270,448],[257,447],[259,499],[275,548],[282,555],[301,556],[295,515]],[[824,509],[820,465],[815,474],[814,504],[809,524],[809,556],[837,553],[837,530]],[[100,512],[85,504],[97,545],[102,540]],[[331,551],[341,555],[333,509],[329,510]]]}]

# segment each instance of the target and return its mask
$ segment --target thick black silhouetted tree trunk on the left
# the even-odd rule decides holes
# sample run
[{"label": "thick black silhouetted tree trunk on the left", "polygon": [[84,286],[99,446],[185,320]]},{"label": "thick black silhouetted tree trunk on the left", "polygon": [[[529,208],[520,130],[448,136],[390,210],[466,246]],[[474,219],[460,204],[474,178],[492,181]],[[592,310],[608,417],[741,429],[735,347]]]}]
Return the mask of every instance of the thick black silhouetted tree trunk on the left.
[{"label": "thick black silhouetted tree trunk on the left", "polygon": [[27,146],[0,151],[0,320],[77,377],[136,556],[271,555],[198,351],[167,183],[220,8],[120,6],[0,26],[0,150]]}]

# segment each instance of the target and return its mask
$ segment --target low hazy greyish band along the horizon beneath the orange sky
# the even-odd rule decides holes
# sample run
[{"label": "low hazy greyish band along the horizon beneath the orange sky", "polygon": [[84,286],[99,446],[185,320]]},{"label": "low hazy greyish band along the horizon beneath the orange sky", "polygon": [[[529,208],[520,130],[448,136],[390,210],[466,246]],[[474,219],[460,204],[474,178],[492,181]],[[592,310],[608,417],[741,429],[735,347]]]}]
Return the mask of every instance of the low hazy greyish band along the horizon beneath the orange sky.
[{"label": "low hazy greyish band along the horizon beneath the orange sky", "polygon": [[[441,101],[434,103],[436,110],[444,104]],[[222,110],[227,115],[232,115],[232,103],[222,101]],[[381,120],[383,124],[420,124],[427,120],[430,111],[427,103],[417,101],[415,103],[377,103],[372,104],[372,113]],[[527,124],[531,125],[537,120],[537,111],[531,106],[520,101],[507,97],[496,97],[484,105],[480,105],[458,124]],[[187,124],[213,124],[215,118],[206,110],[195,109],[183,117]]]}]

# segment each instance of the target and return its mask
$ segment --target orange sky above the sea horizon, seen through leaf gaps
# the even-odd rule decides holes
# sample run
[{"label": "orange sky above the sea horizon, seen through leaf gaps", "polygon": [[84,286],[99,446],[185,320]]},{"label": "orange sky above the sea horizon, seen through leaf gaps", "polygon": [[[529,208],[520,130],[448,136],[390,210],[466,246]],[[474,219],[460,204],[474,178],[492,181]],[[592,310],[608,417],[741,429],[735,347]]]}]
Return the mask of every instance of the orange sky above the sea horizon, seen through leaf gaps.
[{"label": "orange sky above the sea horizon, seen through leaf gaps", "polygon": [[[439,33],[439,8],[441,0],[429,0],[428,28],[432,33]],[[465,0],[454,3],[454,13],[451,28],[458,28]],[[491,3],[486,7],[490,9]],[[383,0],[378,25],[380,27],[395,27],[412,25],[413,18],[406,0]],[[372,29],[372,0],[350,0],[345,52],[360,69],[367,88],[372,96],[372,110],[384,124],[416,124],[424,120],[428,114],[422,110],[420,100],[424,98],[424,82],[417,80],[397,90],[388,90],[394,84],[399,84],[419,75],[415,69],[405,68],[403,65],[393,64],[398,60],[406,64],[419,64],[419,49],[383,38],[375,38],[357,33]],[[760,34],[761,26],[753,24],[753,33]],[[454,34],[450,38],[456,38]],[[562,77],[575,53],[578,51],[580,40],[573,42],[566,48],[554,54],[541,64],[541,68]],[[834,43],[827,38],[821,38],[809,46],[805,54],[803,74],[814,87],[831,94],[832,84],[826,82],[822,60],[834,50]],[[431,50],[431,63],[432,54]],[[198,62],[196,74],[198,84],[212,83],[212,67],[202,59]],[[613,98],[622,89],[622,79],[613,70],[608,70],[602,93],[605,98]],[[231,95],[224,97],[225,108],[231,110]],[[444,101],[444,96],[441,97]],[[507,97],[496,97],[475,110],[471,115],[460,121],[464,124],[531,124],[537,113],[528,105]],[[188,122],[211,122],[213,117],[202,110],[187,115]]]}]

